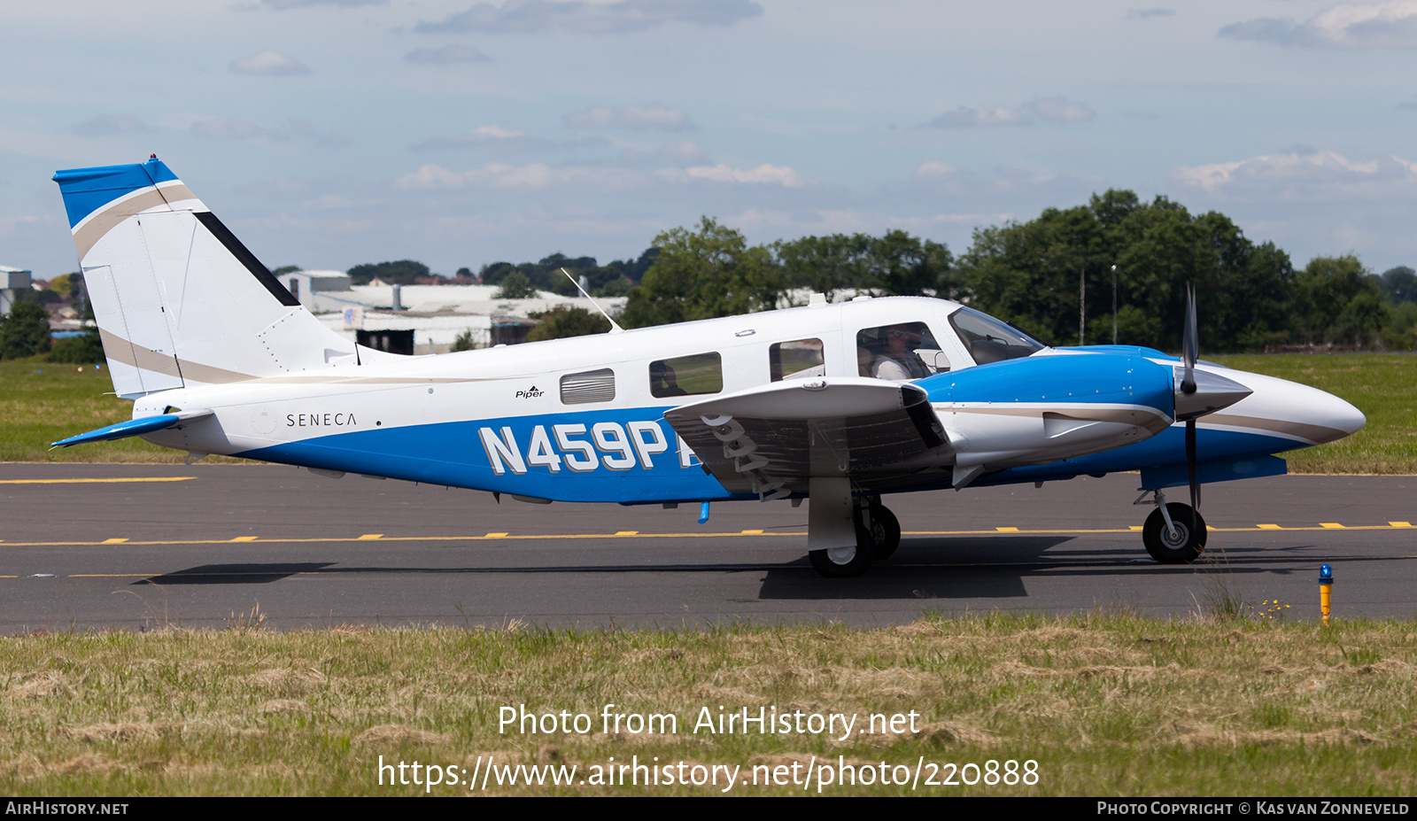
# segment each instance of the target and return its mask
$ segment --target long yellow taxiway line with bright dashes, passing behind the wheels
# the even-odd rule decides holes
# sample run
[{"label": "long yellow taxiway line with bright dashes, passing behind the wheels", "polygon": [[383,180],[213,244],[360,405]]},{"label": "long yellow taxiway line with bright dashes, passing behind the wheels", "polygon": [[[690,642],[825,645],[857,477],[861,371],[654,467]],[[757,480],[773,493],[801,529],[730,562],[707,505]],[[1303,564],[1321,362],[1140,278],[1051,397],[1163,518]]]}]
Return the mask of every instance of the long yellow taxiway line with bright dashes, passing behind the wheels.
[{"label": "long yellow taxiway line with bright dashes, passing behind the wheels", "polygon": [[[1295,533],[1302,530],[1406,530],[1411,525],[1343,525],[1342,527],[1332,526],[1299,526],[1299,527],[1264,527],[1264,526],[1250,526],[1250,527],[1209,527],[1212,533],[1255,533],[1263,530],[1280,529],[1285,533]],[[1135,533],[1138,527],[1129,525],[1127,527],[1094,527],[1094,529],[1040,529],[1040,530],[1026,530],[1023,527],[1017,530],[1000,532],[998,527],[989,530],[907,530],[904,536],[1084,536],[1084,535],[1104,535],[1104,533]],[[639,533],[639,532],[618,532],[618,533],[487,533],[486,536],[387,536],[384,533],[366,533],[363,536],[316,536],[305,539],[281,539],[279,536],[264,536],[261,539],[262,544],[319,544],[319,543],[347,543],[347,542],[483,542],[486,539],[509,539],[509,540],[555,540],[555,539],[733,539],[735,536],[762,536],[767,539],[781,537],[781,536],[806,536],[806,530],[771,530],[762,533],[754,533],[751,530],[734,530],[731,533],[726,532],[696,532],[696,533]],[[6,547],[92,547],[98,544],[125,544],[125,546],[162,546],[162,544],[231,544],[231,539],[164,539],[152,542],[133,542],[130,539],[108,539],[103,542],[6,542]]]}]

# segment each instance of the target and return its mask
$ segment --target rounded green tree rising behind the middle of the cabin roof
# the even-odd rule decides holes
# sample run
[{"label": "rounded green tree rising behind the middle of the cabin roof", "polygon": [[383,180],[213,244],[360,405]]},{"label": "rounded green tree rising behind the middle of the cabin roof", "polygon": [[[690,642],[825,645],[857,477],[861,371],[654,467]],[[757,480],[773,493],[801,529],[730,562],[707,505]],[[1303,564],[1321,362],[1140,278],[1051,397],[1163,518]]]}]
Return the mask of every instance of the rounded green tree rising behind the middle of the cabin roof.
[{"label": "rounded green tree rising behind the middle of the cabin roof", "polygon": [[762,245],[703,217],[697,231],[672,228],[655,237],[659,255],[629,292],[622,323],[667,325],[777,308],[781,269]]}]

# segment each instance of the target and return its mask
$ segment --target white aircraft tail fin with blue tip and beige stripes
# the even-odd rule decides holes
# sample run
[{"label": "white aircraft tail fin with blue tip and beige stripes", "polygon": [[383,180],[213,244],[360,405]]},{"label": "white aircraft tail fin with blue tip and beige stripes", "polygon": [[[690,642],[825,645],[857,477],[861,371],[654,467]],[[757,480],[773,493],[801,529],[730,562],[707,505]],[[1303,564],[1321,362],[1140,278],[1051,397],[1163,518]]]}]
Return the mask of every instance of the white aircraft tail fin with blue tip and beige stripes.
[{"label": "white aircraft tail fin with blue tip and beige stripes", "polygon": [[54,181],[119,396],[359,360],[156,156]]}]

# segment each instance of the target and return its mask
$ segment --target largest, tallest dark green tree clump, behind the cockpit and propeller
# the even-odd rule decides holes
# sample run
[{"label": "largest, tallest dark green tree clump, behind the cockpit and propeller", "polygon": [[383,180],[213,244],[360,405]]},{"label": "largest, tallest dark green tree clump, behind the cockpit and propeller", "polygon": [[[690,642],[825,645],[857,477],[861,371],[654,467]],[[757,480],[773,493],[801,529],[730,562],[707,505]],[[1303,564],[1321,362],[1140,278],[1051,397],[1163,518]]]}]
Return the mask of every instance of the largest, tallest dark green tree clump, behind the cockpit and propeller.
[{"label": "largest, tallest dark green tree clump, behind the cockpit and propeller", "polygon": [[1078,339],[1081,285],[1087,336],[1111,342],[1117,265],[1118,342],[1176,350],[1195,284],[1202,350],[1263,347],[1289,322],[1294,268],[1271,242],[1255,245],[1224,214],[1190,214],[1132,191],[1087,206],[1047,208],[1027,223],[975,231],[959,259],[961,295],[1057,345]]}]

